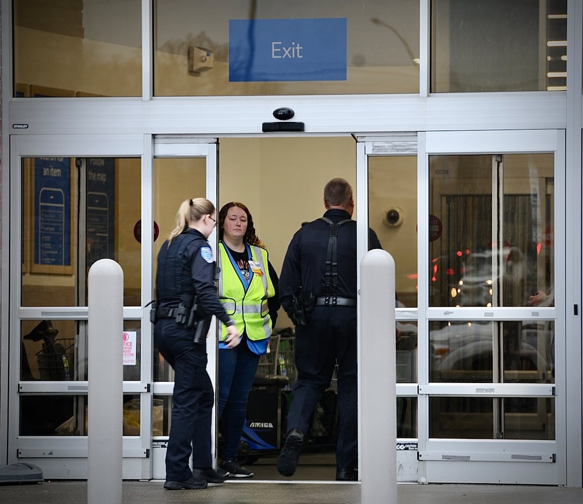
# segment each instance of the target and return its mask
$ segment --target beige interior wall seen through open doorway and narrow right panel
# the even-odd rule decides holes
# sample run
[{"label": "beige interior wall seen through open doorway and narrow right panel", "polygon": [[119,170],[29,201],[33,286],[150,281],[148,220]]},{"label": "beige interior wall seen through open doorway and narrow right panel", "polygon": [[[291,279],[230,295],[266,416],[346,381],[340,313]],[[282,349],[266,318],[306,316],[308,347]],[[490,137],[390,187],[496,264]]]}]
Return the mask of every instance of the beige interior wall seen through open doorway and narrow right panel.
[{"label": "beige interior wall seen through open doorway and narrow right panel", "polygon": [[[399,299],[416,299],[417,158],[369,162],[370,225],[395,259]],[[351,137],[220,139],[219,174],[219,206],[233,200],[248,206],[279,273],[294,232],[325,212],[326,182],[346,178],[356,193],[356,144]],[[392,206],[404,214],[396,228],[384,221]],[[289,325],[280,311],[278,327]]]}]

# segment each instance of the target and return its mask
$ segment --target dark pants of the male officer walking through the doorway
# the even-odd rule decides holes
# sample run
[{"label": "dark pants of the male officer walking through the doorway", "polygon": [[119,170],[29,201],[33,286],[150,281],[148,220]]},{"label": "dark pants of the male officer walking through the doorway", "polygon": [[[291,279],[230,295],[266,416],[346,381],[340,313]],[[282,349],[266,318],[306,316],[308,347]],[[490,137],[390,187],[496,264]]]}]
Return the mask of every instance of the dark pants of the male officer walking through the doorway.
[{"label": "dark pants of the male officer walking through the doorway", "polygon": [[358,467],[356,308],[316,306],[307,326],[296,327],[297,380],[291,391],[287,429],[304,433],[314,408],[329,387],[338,361],[340,433],[338,468]]}]

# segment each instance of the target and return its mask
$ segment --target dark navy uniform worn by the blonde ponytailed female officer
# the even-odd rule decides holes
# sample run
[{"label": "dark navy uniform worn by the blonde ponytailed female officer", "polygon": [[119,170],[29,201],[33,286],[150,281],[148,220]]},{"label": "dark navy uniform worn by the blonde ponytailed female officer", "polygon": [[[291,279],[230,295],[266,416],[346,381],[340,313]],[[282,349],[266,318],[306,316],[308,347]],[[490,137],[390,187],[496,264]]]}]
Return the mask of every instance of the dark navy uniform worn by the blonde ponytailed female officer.
[{"label": "dark navy uniform worn by the blonde ponytailed female officer", "polygon": [[202,321],[207,330],[213,314],[232,325],[217,298],[214,280],[215,261],[201,232],[187,228],[171,241],[170,247],[167,241],[162,245],[156,274],[154,341],[175,373],[166,481],[192,477],[188,466],[191,453],[195,468],[212,467],[210,426],[215,396],[206,372],[206,339],[194,343],[194,330],[177,323],[176,314],[186,292],[196,294],[200,309],[207,314]]}]

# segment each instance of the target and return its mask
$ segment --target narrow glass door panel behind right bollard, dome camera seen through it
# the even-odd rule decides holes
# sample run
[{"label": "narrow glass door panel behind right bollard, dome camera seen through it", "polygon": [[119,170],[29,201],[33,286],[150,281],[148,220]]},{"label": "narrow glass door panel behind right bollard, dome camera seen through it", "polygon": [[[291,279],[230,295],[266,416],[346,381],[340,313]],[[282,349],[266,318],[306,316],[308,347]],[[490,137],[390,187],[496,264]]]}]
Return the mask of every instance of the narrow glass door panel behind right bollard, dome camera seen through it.
[{"label": "narrow glass door panel behind right bollard, dome camera seen through it", "polygon": [[367,142],[365,150],[368,226],[395,260],[398,480],[417,481],[417,157],[411,155],[416,137]]}]

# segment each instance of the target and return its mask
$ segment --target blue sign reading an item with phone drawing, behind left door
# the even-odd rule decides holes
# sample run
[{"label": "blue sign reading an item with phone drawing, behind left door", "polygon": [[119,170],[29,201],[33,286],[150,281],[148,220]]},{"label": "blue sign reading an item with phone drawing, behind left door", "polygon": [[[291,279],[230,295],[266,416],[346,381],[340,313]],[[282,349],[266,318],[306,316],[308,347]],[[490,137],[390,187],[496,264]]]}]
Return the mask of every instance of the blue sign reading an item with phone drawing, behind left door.
[{"label": "blue sign reading an item with phone drawing, behind left door", "polygon": [[34,158],[34,264],[71,266],[71,158]]}]

